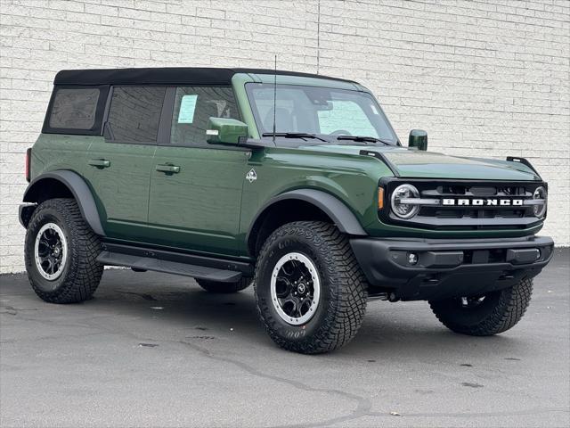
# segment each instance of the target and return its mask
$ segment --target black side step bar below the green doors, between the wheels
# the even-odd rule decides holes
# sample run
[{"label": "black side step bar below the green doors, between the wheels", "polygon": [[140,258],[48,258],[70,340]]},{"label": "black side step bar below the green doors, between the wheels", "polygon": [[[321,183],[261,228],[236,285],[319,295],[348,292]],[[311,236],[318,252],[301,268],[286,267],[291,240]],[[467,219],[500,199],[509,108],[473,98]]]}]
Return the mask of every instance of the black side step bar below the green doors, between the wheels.
[{"label": "black side step bar below the green doors, between the wheels", "polygon": [[103,265],[153,270],[221,283],[238,282],[242,275],[253,274],[253,266],[246,262],[148,250],[116,243],[104,243],[97,261]]}]

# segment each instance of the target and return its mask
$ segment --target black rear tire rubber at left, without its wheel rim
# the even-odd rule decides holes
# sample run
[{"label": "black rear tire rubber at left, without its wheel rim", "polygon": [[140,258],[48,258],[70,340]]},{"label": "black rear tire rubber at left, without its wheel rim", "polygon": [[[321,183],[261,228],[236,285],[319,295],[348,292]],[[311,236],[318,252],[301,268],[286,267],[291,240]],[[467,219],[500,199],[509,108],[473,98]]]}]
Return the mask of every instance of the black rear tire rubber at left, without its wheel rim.
[{"label": "black rear tire rubber at left, without its wheel rim", "polygon": [[[61,276],[53,281],[39,274],[34,251],[37,233],[47,223],[61,228],[69,254]],[[103,265],[96,261],[102,250],[100,239],[81,216],[73,199],[49,199],[39,204],[28,224],[25,261],[34,292],[50,303],[77,303],[89,300],[97,289]]]}]

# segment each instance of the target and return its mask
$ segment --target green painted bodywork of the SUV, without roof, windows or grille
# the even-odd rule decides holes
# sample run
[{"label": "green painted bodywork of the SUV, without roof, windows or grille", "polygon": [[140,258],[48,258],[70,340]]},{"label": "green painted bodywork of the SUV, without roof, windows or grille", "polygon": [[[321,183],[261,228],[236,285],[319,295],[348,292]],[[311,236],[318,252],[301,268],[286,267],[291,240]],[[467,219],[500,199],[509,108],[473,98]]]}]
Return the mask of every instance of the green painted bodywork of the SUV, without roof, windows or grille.
[{"label": "green painted bodywork of the SUV, without roof, windows or grille", "polygon": [[[250,138],[259,138],[245,85],[273,83],[271,75],[237,74],[232,86],[241,121]],[[277,76],[278,84],[327,86],[369,92],[338,80]],[[229,128],[228,128],[229,126]],[[378,185],[394,177],[379,159],[362,156],[362,145],[305,145],[295,148],[239,147],[244,128],[216,119],[220,141],[206,147],[108,143],[102,136],[42,134],[32,151],[32,178],[69,169],[85,178],[97,204],[105,233],[130,243],[152,243],[211,255],[248,259],[246,236],[258,211],[274,196],[310,188],[344,202],[364,230],[375,237],[484,238],[534,235],[541,228],[436,231],[383,224],[378,217]],[[401,177],[504,181],[540,180],[517,162],[467,159],[403,147],[374,146]],[[108,168],[89,160],[110,161]],[[175,165],[177,173],[156,169]],[[255,169],[256,180],[246,179]]]}]

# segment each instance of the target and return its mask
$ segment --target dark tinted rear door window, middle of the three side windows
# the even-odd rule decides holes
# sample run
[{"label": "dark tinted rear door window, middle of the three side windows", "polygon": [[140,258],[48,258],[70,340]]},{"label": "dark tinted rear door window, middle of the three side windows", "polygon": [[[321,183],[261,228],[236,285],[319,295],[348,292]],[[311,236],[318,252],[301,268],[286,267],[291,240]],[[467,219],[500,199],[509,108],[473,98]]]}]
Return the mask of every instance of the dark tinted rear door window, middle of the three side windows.
[{"label": "dark tinted rear door window, middle of the three side windows", "polygon": [[156,144],[166,87],[115,86],[103,135],[117,143]]}]

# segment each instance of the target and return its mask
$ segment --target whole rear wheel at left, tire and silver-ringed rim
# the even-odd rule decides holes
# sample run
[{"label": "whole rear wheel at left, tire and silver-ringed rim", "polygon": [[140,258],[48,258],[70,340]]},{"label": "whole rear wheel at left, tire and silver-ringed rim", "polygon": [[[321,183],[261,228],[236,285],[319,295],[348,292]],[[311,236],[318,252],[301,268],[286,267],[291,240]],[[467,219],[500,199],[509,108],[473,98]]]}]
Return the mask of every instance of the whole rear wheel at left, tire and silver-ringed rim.
[{"label": "whole rear wheel at left, tire and silver-ringed rim", "polygon": [[29,283],[45,301],[89,300],[101,281],[99,237],[72,199],[39,204],[28,224],[24,252]]}]

